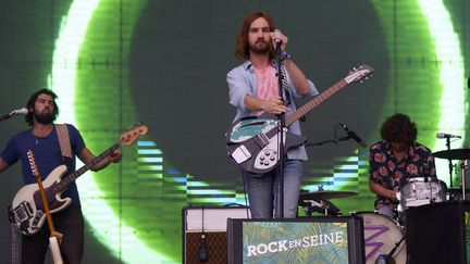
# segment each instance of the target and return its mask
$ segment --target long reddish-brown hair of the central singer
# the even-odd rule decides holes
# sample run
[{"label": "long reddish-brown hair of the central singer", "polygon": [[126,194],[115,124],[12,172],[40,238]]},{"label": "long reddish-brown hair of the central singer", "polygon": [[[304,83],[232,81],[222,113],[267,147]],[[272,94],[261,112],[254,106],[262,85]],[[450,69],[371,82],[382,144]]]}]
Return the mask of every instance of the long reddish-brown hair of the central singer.
[{"label": "long reddish-brown hair of the central singer", "polygon": [[[270,27],[270,32],[274,30],[274,22],[271,18],[271,16],[269,16],[269,14],[264,13],[264,12],[252,12],[249,13],[245,20],[242,22],[242,27],[238,33],[238,36],[236,38],[236,47],[235,47],[235,56],[243,60],[249,60],[249,43],[248,43],[248,34],[249,34],[249,28],[250,25],[253,21],[258,20],[259,17],[263,17],[264,20],[268,21],[268,25]],[[269,45],[269,54],[270,54],[270,59],[274,59],[275,58],[275,50],[272,47],[272,45]]]}]

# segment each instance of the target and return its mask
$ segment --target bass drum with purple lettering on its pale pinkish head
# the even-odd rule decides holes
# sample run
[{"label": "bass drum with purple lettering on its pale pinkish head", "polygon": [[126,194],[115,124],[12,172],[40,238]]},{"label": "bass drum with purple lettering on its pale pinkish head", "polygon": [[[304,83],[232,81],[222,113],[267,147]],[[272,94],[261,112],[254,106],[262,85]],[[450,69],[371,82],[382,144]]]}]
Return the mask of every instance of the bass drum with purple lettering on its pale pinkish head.
[{"label": "bass drum with purple lettering on its pale pinkish head", "polygon": [[[388,254],[404,237],[398,223],[387,216],[374,212],[356,213],[363,218],[366,263],[374,264],[381,254]],[[392,255],[395,263],[406,263],[405,240],[396,247]]]}]

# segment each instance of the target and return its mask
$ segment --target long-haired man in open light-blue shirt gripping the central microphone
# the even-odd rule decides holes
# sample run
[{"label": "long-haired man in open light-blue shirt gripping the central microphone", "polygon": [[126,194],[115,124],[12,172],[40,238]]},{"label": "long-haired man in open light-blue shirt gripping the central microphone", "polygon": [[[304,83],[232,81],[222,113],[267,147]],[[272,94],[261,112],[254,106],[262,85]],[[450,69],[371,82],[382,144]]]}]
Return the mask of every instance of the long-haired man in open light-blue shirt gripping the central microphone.
[{"label": "long-haired man in open light-blue shirt gripping the central microphone", "polygon": [[[248,14],[242,23],[236,38],[235,55],[243,60],[243,64],[233,68],[226,76],[230,103],[236,108],[235,120],[246,116],[258,116],[263,112],[271,114],[285,113],[290,115],[296,106],[294,97],[316,96],[317,88],[306,78],[301,70],[287,53],[288,38],[279,29],[267,13],[253,12]],[[281,71],[285,72],[286,89],[285,103],[279,96],[276,73],[276,48],[281,46],[280,60],[283,61]],[[300,125],[295,122],[289,130],[300,135]],[[272,218],[283,215],[293,218],[297,213],[297,203],[302,176],[302,162],[307,160],[304,146],[287,151],[284,159],[284,203],[283,213],[280,212],[281,202],[279,186],[279,169],[263,175],[251,175],[242,172],[245,190],[251,216],[253,218]]]}]

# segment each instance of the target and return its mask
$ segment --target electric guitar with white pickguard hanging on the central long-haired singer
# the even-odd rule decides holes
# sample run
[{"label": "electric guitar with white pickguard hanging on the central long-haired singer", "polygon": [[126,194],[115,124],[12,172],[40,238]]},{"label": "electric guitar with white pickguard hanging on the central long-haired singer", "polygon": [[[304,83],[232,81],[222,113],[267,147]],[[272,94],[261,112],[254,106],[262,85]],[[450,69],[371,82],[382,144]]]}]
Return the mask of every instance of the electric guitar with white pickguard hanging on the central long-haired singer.
[{"label": "electric guitar with white pickguard hanging on the central long-haired singer", "polygon": [[[339,91],[350,83],[361,81],[373,73],[369,65],[354,68],[349,74],[304,104],[292,115],[285,118],[284,151],[304,144],[307,137],[288,131],[288,127],[313,110],[327,98]],[[227,152],[231,160],[242,169],[250,174],[265,174],[274,169],[280,161],[279,149],[279,122],[274,115],[263,113],[260,116],[248,116],[235,121],[226,133]],[[283,153],[285,154],[285,153]]]}]

